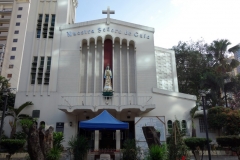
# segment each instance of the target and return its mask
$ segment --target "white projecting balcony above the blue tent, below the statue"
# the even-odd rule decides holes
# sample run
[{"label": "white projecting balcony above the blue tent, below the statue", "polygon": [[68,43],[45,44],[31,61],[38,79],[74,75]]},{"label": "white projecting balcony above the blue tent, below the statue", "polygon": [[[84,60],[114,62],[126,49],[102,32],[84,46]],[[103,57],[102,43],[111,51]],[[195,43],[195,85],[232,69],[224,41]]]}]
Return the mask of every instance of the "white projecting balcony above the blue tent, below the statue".
[{"label": "white projecting balcony above the blue tent, below the statue", "polygon": [[113,109],[116,112],[134,110],[141,114],[154,108],[151,96],[61,96],[58,105],[63,112],[75,115],[83,110],[98,112],[101,109]]}]

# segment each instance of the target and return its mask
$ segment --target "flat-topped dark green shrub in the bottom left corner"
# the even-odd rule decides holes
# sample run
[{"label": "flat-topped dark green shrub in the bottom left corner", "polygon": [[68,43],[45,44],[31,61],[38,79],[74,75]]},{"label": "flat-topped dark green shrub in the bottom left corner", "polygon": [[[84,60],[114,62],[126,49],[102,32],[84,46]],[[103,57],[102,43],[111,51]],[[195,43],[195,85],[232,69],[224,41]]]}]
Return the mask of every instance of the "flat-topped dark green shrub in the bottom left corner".
[{"label": "flat-topped dark green shrub in the bottom left corner", "polygon": [[11,155],[23,148],[25,143],[26,140],[22,139],[3,139],[1,142],[1,146],[6,149],[6,151],[10,154],[11,157]]}]

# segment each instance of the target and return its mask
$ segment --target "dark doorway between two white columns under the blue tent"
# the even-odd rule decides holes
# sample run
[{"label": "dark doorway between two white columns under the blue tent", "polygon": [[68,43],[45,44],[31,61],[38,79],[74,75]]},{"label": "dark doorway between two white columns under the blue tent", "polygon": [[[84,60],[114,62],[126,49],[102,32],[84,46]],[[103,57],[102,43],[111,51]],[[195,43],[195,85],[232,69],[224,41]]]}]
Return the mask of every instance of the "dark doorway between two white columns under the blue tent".
[{"label": "dark doorway between two white columns under the blue tent", "polygon": [[99,149],[115,149],[116,148],[116,131],[100,130]]}]

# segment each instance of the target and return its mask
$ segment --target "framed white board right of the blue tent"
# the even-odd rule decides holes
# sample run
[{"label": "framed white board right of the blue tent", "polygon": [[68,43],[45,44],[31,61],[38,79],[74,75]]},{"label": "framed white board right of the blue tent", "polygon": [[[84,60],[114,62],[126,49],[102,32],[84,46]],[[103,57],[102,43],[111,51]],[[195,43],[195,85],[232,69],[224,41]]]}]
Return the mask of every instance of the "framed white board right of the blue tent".
[{"label": "framed white board right of the blue tent", "polygon": [[143,134],[143,126],[153,126],[160,131],[160,142],[166,141],[165,117],[135,117],[135,139],[137,145],[142,149],[147,149],[148,145]]}]

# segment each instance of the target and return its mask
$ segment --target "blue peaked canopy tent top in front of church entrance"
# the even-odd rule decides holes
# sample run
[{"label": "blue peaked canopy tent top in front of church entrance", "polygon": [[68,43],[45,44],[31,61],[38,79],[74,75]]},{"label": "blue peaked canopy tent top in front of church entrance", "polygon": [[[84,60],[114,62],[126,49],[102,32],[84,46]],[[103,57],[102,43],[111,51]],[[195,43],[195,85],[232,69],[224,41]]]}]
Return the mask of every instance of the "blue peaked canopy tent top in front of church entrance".
[{"label": "blue peaked canopy tent top in front of church entrance", "polygon": [[101,129],[110,129],[110,130],[120,130],[120,129],[129,129],[128,123],[121,122],[114,118],[108,111],[104,110],[98,116],[87,120],[81,121],[79,123],[80,128],[90,129],[90,130],[101,130]]}]

